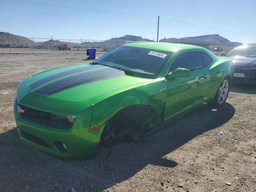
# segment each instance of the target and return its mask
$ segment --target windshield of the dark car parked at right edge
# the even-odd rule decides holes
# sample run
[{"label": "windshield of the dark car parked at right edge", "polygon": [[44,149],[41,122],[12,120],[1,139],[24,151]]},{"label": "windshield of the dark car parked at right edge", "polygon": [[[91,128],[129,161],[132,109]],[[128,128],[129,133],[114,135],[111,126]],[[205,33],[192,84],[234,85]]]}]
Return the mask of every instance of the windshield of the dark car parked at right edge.
[{"label": "windshield of the dark car parked at right edge", "polygon": [[225,54],[226,56],[256,57],[256,45],[237,46]]}]

